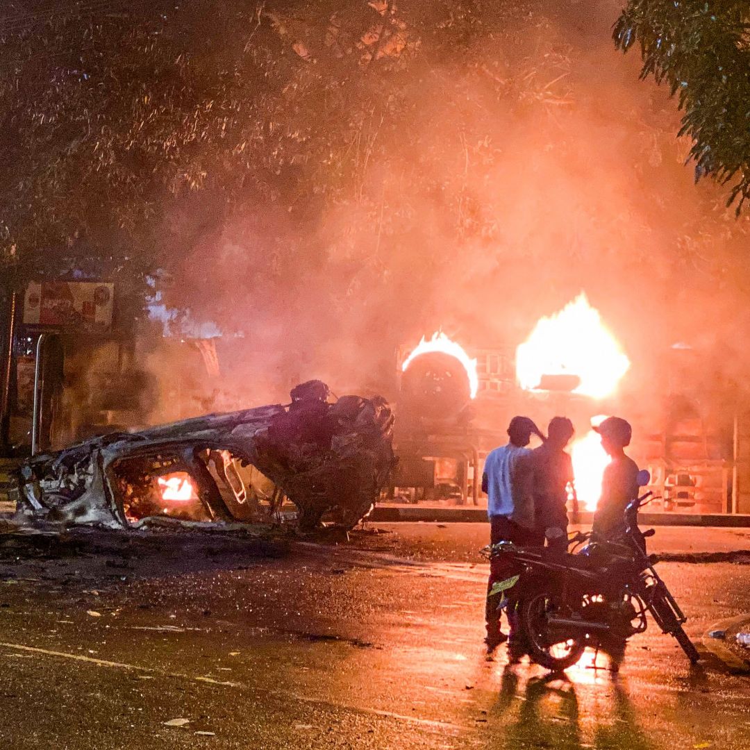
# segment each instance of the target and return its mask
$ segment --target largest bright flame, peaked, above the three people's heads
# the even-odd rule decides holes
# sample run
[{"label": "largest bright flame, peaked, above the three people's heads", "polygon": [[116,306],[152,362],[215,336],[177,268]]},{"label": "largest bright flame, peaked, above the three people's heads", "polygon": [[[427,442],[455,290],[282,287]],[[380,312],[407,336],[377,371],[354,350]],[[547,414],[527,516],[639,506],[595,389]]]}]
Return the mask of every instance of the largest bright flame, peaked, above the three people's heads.
[{"label": "largest bright flame, peaked, above the three people's heads", "polygon": [[558,313],[541,318],[516,350],[518,383],[528,391],[538,390],[544,376],[572,376],[580,380],[574,393],[604,398],[629,367],[583,292]]}]

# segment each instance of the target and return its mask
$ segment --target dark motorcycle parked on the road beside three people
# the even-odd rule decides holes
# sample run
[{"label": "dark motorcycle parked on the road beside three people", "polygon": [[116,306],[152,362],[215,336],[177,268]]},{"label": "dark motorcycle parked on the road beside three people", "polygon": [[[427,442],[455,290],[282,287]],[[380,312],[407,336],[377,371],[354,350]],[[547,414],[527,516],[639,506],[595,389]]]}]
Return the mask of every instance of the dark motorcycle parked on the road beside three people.
[{"label": "dark motorcycle parked on the road beside three people", "polygon": [[[639,487],[649,481],[649,472],[639,472]],[[638,511],[651,497],[649,492],[634,498],[625,509],[622,532],[606,541],[576,532],[562,552],[506,541],[485,547],[487,558],[502,555],[518,573],[496,586],[505,603],[516,607],[532,661],[559,672],[592,647],[607,652],[610,668],[617,670],[625,641],[646,630],[646,613],[676,638],[691,663],[698,661],[682,629],[687,618],[655,571],[658,557],[646,551],[646,538],[655,531],[638,527]]]}]

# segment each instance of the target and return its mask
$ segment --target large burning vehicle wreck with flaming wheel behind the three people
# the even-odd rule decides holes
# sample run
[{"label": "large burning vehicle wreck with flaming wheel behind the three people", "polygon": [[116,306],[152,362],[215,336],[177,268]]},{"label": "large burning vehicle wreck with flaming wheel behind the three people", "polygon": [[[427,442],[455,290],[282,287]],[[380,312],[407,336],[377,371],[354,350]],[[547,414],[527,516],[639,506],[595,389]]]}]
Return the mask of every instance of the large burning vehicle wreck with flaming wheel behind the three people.
[{"label": "large burning vehicle wreck with flaming wheel behind the three people", "polygon": [[444,332],[401,347],[394,499],[481,504],[484,457],[507,440],[508,419],[527,414],[544,428],[565,415],[577,430],[568,447],[577,496],[593,511],[608,458],[592,425],[618,413],[634,425],[631,455],[651,472],[659,497],[652,510],[750,512],[743,460],[750,421],[700,403],[700,360],[685,345],[662,353],[659,364],[661,377],[649,389],[638,385],[656,368],[647,362],[634,376],[636,366],[585,293],[541,317],[516,347],[469,351]]}]

